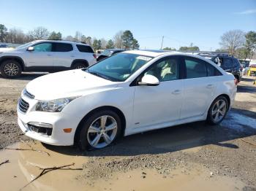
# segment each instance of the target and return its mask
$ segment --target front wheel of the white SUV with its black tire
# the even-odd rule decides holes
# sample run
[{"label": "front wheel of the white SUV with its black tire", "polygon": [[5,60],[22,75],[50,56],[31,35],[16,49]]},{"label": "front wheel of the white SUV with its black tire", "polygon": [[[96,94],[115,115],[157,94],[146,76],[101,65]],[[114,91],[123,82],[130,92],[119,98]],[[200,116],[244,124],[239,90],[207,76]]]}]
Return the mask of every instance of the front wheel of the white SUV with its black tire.
[{"label": "front wheel of the white SUV with its black tire", "polygon": [[0,71],[4,78],[15,78],[20,76],[22,68],[18,61],[8,60],[1,64]]}]

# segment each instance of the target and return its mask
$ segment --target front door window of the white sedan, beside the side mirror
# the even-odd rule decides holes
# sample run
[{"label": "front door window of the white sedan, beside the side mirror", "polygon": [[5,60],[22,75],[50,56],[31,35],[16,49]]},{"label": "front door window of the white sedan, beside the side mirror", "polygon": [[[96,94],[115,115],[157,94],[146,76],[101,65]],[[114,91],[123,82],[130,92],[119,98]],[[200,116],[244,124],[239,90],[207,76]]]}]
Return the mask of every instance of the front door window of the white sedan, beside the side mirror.
[{"label": "front door window of the white sedan, beside the side mirror", "polygon": [[152,76],[157,77],[159,82],[178,79],[178,59],[167,58],[164,61],[160,61],[151,67],[151,69],[148,69],[144,75],[146,74],[151,74]]}]

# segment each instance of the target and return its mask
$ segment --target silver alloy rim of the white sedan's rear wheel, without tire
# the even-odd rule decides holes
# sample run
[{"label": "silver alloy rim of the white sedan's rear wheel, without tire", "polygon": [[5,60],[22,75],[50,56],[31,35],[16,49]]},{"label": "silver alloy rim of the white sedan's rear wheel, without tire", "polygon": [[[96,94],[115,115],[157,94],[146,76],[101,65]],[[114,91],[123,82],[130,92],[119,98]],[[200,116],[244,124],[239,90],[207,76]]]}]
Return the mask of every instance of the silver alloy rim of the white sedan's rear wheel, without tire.
[{"label": "silver alloy rim of the white sedan's rear wheel, without tire", "polygon": [[225,117],[227,104],[225,100],[219,99],[212,107],[211,116],[214,122],[219,122]]}]

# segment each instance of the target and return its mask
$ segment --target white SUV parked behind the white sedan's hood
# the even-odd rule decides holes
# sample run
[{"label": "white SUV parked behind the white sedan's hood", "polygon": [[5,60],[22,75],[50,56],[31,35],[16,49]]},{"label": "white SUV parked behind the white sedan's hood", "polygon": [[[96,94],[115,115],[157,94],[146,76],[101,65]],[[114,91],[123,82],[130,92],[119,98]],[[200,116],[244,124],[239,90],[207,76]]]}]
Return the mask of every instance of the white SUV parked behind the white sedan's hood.
[{"label": "white SUV parked behind the white sedan's hood", "polygon": [[96,63],[94,50],[78,42],[38,40],[0,52],[0,71],[6,78],[18,77],[22,71],[63,71],[86,68]]}]

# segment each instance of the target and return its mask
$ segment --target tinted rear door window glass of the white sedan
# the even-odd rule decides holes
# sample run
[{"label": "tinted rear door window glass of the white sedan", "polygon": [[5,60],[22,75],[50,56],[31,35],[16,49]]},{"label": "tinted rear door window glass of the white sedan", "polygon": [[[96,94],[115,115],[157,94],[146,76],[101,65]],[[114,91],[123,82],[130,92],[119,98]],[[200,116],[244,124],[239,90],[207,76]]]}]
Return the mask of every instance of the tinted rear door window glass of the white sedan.
[{"label": "tinted rear door window glass of the white sedan", "polygon": [[185,57],[187,78],[207,77],[206,63],[197,58]]}]

